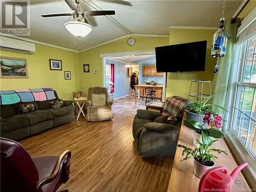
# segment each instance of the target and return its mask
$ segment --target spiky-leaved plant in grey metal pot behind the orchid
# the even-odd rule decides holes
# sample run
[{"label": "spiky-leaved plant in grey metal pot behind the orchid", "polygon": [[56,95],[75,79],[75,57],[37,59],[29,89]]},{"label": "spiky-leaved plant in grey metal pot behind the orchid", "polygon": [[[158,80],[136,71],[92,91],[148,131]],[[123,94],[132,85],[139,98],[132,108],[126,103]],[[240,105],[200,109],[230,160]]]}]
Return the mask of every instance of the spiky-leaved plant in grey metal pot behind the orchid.
[{"label": "spiky-leaved plant in grey metal pot behind the orchid", "polygon": [[[203,118],[205,113],[211,113],[215,116],[215,109],[217,108],[229,113],[229,111],[227,111],[225,108],[218,104],[208,103],[209,99],[211,99],[212,96],[207,97],[201,103],[200,101],[191,101],[190,104],[187,104],[185,106],[186,119],[198,121],[199,123],[203,124]],[[204,123],[203,126],[206,127],[207,124]]]}]

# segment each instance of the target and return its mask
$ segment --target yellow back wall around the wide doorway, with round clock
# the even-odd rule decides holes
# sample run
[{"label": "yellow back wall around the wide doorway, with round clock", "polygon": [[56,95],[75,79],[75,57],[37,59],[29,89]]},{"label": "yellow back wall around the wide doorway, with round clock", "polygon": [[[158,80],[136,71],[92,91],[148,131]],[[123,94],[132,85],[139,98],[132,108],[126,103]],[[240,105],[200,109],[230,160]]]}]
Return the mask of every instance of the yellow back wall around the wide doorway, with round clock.
[{"label": "yellow back wall around the wide doorway, with round clock", "polygon": [[[168,45],[169,41],[168,37],[134,36],[135,44],[129,46],[127,45],[127,38],[118,39],[79,53],[80,85],[86,95],[89,87],[102,86],[102,58],[100,54],[155,50],[155,47]],[[85,63],[90,65],[90,73],[83,73],[83,64]],[[93,73],[95,69],[98,71],[97,74]]]}]

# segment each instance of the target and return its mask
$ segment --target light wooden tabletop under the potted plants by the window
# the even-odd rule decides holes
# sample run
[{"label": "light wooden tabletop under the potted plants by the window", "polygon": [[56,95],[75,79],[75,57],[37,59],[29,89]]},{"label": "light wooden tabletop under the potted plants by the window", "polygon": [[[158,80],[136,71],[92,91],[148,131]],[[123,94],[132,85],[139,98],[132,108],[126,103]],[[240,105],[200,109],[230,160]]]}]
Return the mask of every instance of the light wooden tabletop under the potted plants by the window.
[{"label": "light wooden tabletop under the potted plants by the window", "polygon": [[[188,129],[183,123],[180,129],[178,144],[195,148],[193,145],[193,131]],[[220,148],[228,154],[217,153],[216,155],[218,156],[218,159],[215,160],[215,167],[225,166],[228,168],[228,173],[230,174],[232,170],[237,167],[237,163],[234,161],[224,139],[218,139],[212,146],[214,148]],[[167,192],[198,191],[200,179],[193,173],[194,160],[193,158],[190,158],[187,161],[181,161],[184,158],[184,156],[182,156],[182,151],[182,148],[177,147]],[[238,174],[236,181],[233,183],[232,190],[230,191],[250,191],[241,172]]]}]

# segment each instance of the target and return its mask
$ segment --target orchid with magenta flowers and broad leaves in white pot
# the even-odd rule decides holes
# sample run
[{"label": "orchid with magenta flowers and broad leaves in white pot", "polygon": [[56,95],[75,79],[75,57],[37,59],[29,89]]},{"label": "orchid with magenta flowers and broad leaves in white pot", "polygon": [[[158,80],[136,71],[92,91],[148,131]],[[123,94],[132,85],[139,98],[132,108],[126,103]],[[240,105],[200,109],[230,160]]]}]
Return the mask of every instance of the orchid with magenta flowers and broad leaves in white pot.
[{"label": "orchid with magenta flowers and broad leaves in white pot", "polygon": [[203,125],[197,121],[185,119],[183,124],[186,125],[189,129],[193,130],[193,143],[195,146],[199,146],[196,140],[199,140],[203,144],[210,142],[211,137],[213,138],[222,138],[224,134],[220,129],[222,117],[216,114],[214,119],[211,118],[211,113],[205,113],[203,117],[203,123],[209,126],[209,129],[206,129]]}]

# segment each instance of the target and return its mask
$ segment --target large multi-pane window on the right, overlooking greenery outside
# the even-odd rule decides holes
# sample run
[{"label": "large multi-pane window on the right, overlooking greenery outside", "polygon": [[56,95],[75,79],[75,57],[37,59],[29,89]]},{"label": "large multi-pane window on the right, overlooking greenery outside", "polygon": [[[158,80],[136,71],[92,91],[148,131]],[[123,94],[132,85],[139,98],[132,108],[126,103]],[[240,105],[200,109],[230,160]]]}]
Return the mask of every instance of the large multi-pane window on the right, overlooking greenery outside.
[{"label": "large multi-pane window on the right, overlooking greenery outside", "polygon": [[256,35],[236,48],[234,66],[238,66],[236,99],[231,131],[251,155],[256,157]]}]

